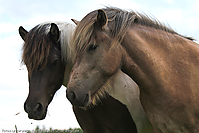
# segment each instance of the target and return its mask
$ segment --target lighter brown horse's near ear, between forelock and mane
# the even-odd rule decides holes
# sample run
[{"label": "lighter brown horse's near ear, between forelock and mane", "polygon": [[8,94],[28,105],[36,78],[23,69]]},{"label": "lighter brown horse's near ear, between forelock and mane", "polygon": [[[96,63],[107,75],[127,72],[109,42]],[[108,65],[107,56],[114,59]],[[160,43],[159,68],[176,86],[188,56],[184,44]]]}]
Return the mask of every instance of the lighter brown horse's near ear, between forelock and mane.
[{"label": "lighter brown horse's near ear, between forelock and mane", "polygon": [[104,10],[101,9],[98,10],[97,22],[101,28],[103,28],[107,24],[108,18]]}]

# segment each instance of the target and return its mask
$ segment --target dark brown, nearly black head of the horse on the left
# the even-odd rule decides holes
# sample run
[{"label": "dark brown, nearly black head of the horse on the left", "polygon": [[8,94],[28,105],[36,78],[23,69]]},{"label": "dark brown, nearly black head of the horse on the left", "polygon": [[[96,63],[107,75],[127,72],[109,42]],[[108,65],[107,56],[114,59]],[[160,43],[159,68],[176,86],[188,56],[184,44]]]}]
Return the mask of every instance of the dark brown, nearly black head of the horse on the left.
[{"label": "dark brown, nearly black head of the horse on the left", "polygon": [[30,119],[42,120],[64,79],[60,31],[56,24],[47,23],[37,25],[29,32],[21,26],[19,34],[24,40],[22,62],[27,67],[29,79],[24,110]]}]

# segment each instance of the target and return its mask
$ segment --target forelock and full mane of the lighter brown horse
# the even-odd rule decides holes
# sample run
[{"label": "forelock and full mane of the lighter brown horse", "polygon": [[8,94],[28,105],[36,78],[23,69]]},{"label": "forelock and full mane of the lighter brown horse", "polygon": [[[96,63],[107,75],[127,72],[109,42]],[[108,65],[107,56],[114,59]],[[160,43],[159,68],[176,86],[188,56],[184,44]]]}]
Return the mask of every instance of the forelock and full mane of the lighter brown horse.
[{"label": "forelock and full mane of the lighter brown horse", "polygon": [[[108,17],[108,27],[110,29],[110,34],[114,38],[112,45],[117,42],[121,42],[125,33],[130,25],[133,23],[145,25],[148,27],[153,27],[155,29],[160,29],[172,34],[177,34],[171,27],[166,26],[155,18],[149,17],[146,14],[138,13],[135,11],[125,11],[115,7],[103,8]],[[98,10],[94,10],[87,14],[81,22],[76,27],[73,36],[73,43],[76,46],[76,50],[84,51],[87,48],[89,41],[91,41],[91,35],[94,30],[94,24],[97,20]],[[110,24],[109,24],[110,23]],[[182,36],[182,35],[179,35]],[[191,37],[185,37],[189,40],[194,40]]]}]

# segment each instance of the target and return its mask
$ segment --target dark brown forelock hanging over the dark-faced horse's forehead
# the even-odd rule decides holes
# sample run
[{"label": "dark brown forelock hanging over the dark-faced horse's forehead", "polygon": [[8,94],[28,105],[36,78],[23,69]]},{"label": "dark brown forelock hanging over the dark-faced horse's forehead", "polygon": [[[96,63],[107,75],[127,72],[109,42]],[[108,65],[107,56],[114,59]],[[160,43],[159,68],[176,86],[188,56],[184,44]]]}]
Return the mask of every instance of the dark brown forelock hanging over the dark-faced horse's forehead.
[{"label": "dark brown forelock hanging over the dark-faced horse's forehead", "polygon": [[42,69],[47,63],[51,47],[47,32],[49,26],[37,25],[25,37],[22,62],[27,66],[29,73]]}]

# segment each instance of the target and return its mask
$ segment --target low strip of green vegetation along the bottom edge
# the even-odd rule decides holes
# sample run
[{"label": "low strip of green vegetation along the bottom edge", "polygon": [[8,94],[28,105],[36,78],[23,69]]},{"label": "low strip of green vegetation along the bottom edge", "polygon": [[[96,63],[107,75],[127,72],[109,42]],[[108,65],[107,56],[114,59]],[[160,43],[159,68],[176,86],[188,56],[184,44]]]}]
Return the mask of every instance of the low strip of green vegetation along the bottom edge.
[{"label": "low strip of green vegetation along the bottom edge", "polygon": [[37,126],[34,131],[31,131],[31,132],[29,131],[27,133],[83,133],[83,131],[80,128],[74,128],[74,129],[69,128],[67,130],[65,129],[60,130],[60,129],[52,129],[52,128],[46,129],[45,127],[40,129],[40,127]]}]

